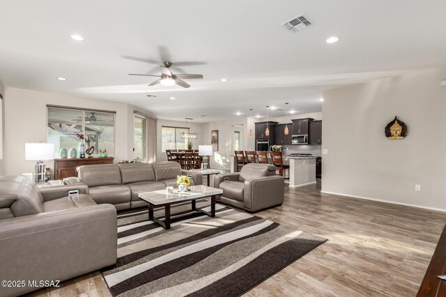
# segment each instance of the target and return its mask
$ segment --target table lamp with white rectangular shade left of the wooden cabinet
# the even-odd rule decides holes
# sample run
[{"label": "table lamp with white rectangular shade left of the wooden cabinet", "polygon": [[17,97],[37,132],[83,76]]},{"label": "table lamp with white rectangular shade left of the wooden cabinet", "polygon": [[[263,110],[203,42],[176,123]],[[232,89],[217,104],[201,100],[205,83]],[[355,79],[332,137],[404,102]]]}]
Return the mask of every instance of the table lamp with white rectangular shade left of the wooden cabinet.
[{"label": "table lamp with white rectangular shade left of the wooden cabinet", "polygon": [[25,160],[36,161],[34,182],[45,184],[45,163],[43,160],[54,160],[54,143],[25,143]]}]

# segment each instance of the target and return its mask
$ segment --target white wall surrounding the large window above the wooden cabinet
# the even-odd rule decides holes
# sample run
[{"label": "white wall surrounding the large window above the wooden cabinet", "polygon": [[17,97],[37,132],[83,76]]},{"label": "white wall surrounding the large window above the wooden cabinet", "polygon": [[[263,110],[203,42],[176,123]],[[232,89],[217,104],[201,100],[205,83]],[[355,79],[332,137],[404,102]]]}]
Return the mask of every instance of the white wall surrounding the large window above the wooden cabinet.
[{"label": "white wall surrounding the large window above the wooden cabinet", "polygon": [[[47,141],[47,104],[116,111],[115,162],[133,159],[133,106],[56,93],[8,88],[5,90],[4,174],[33,172],[33,161],[25,161],[24,144]],[[47,161],[53,168],[54,162]]]}]

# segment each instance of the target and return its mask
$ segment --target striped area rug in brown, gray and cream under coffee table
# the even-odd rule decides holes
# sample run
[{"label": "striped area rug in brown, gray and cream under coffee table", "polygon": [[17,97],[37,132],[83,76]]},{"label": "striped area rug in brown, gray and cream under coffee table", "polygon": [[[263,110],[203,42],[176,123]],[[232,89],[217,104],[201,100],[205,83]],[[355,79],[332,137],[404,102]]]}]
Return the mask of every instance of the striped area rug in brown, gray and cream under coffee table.
[{"label": "striped area rug in brown, gray and cream under coffee table", "polygon": [[240,296],[326,241],[222,204],[215,218],[190,202],[171,214],[164,230],[147,209],[118,213],[118,261],[102,271],[114,296]]}]

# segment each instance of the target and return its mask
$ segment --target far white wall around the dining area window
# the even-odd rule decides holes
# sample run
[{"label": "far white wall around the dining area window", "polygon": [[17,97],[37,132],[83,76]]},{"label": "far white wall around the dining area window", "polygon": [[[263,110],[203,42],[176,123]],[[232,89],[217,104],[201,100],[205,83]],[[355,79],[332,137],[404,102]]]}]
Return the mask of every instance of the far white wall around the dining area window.
[{"label": "far white wall around the dining area window", "polygon": [[[157,153],[156,153],[156,161],[167,161],[167,154],[165,151],[163,151],[161,149],[162,146],[162,133],[161,133],[161,127],[162,126],[167,126],[167,127],[181,127],[181,128],[191,128],[191,124],[190,121],[187,121],[187,126],[186,126],[186,121],[174,121],[174,120],[162,120],[162,119],[158,119],[157,120]],[[194,133],[198,134],[198,138],[197,139],[191,139],[192,143],[193,143],[193,149],[194,150],[198,150],[198,146],[199,145],[203,145],[204,141],[203,141],[203,131],[202,131],[202,127],[203,124],[199,124],[199,123],[192,123],[192,131]],[[210,141],[208,142],[208,144],[210,143]]]}]

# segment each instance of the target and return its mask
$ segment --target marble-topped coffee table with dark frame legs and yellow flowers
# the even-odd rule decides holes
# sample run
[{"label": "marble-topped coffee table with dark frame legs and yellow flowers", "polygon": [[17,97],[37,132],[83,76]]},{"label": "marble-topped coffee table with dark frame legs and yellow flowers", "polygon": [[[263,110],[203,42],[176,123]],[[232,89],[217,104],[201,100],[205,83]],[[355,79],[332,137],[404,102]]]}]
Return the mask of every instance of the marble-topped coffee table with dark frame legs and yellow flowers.
[{"label": "marble-topped coffee table with dark frame legs and yellow flowers", "polygon": [[[220,188],[211,188],[210,186],[190,186],[190,191],[178,192],[178,188],[174,189],[174,193],[167,193],[167,189],[159,191],[151,191],[139,193],[139,199],[148,202],[148,219],[161,225],[164,229],[170,229],[170,207],[172,204],[178,204],[185,201],[192,201],[192,210],[202,212],[210,217],[215,216],[215,195],[221,195],[223,190]],[[210,197],[210,211],[197,209],[195,200],[199,198]],[[155,206],[164,206],[164,221],[153,216]]]}]

